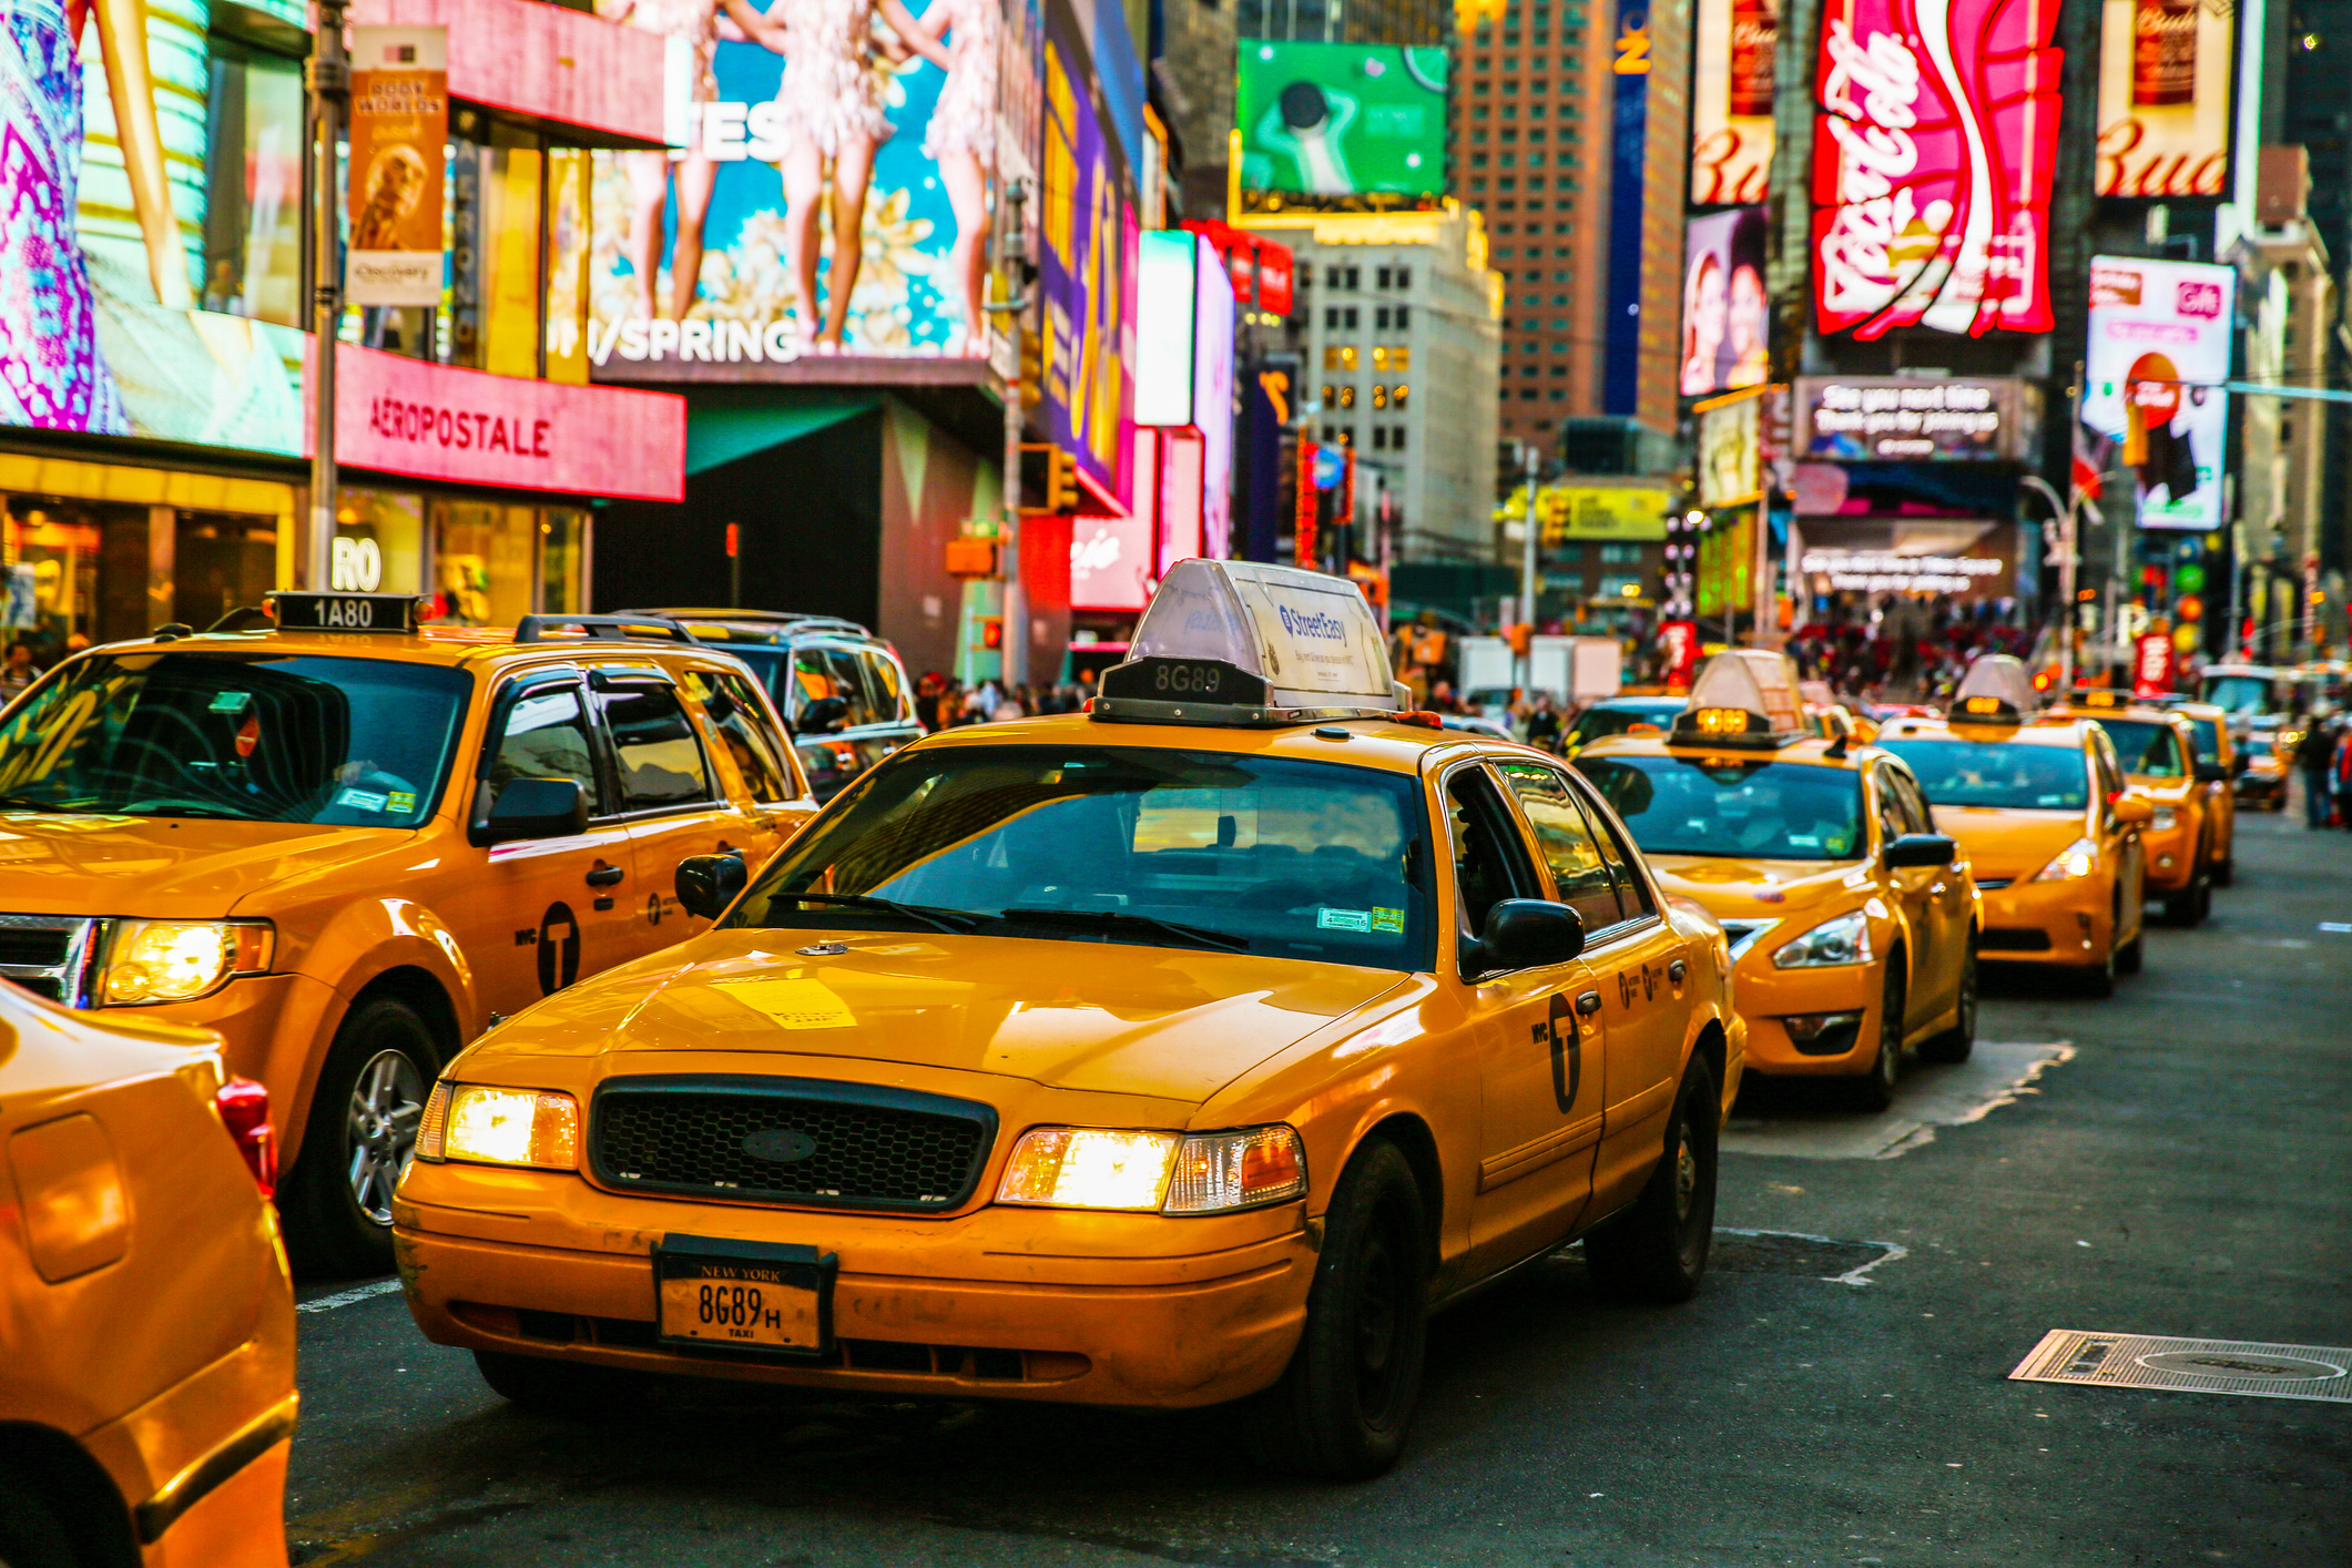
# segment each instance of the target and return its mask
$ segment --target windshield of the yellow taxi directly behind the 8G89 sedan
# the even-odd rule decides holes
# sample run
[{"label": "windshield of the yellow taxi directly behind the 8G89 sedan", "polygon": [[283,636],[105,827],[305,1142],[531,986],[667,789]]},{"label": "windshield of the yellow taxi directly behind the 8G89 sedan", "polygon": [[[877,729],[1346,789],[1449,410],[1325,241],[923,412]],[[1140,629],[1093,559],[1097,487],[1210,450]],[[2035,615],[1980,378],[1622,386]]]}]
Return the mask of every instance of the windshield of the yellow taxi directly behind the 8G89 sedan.
[{"label": "windshield of the yellow taxi directly behind the 8G89 sedan", "polygon": [[1729,757],[1585,757],[1576,766],[1649,856],[1863,853],[1863,785],[1846,769]]}]

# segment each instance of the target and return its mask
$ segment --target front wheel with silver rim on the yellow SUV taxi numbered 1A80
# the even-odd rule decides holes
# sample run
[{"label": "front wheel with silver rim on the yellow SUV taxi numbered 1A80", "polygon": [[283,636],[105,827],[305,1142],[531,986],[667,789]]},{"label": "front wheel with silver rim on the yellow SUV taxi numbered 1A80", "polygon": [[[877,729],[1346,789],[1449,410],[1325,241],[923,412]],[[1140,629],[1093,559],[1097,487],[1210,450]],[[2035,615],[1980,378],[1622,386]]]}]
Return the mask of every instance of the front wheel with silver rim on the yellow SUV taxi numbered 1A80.
[{"label": "front wheel with silver rim on the yellow SUV taxi numbered 1A80", "polygon": [[393,1185],[416,1150],[440,1046],[407,1001],[362,1001],[334,1032],[301,1157],[278,1194],[287,1251],[310,1276],[393,1272]]}]

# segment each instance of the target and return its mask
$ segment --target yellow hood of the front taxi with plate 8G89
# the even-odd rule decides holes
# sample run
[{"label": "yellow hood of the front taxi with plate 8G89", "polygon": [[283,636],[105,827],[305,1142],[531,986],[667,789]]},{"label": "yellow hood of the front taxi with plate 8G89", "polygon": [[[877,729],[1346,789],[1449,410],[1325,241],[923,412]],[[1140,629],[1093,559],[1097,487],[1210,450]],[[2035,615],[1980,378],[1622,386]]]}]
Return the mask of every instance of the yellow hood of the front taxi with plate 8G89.
[{"label": "yellow hood of the front taxi with plate 8G89", "polygon": [[[795,952],[833,943],[847,952]],[[557,992],[477,1051],[837,1056],[1202,1103],[1399,985],[1409,976],[1190,947],[710,931]]]}]

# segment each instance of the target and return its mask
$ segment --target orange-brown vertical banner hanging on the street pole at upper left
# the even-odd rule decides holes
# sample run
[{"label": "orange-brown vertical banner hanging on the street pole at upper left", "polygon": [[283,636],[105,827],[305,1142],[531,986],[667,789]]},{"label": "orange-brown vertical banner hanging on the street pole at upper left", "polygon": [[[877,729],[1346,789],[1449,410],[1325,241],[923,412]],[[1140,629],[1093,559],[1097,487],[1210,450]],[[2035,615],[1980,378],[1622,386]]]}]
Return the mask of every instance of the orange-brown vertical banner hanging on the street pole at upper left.
[{"label": "orange-brown vertical banner hanging on the street pole at upper left", "polygon": [[350,252],[353,306],[437,306],[442,296],[442,148],[449,143],[449,31],[353,28]]}]

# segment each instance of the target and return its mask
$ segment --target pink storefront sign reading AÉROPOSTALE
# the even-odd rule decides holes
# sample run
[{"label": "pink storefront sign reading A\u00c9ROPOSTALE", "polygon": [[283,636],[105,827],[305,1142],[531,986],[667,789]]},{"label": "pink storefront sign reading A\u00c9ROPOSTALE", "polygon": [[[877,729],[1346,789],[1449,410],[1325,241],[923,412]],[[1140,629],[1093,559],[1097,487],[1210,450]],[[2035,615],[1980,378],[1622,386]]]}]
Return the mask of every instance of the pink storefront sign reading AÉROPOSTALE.
[{"label": "pink storefront sign reading A\u00c9ROPOSTALE", "polygon": [[673,393],[485,376],[350,343],[334,364],[334,456],[350,468],[616,501],[687,494],[687,400]]}]

